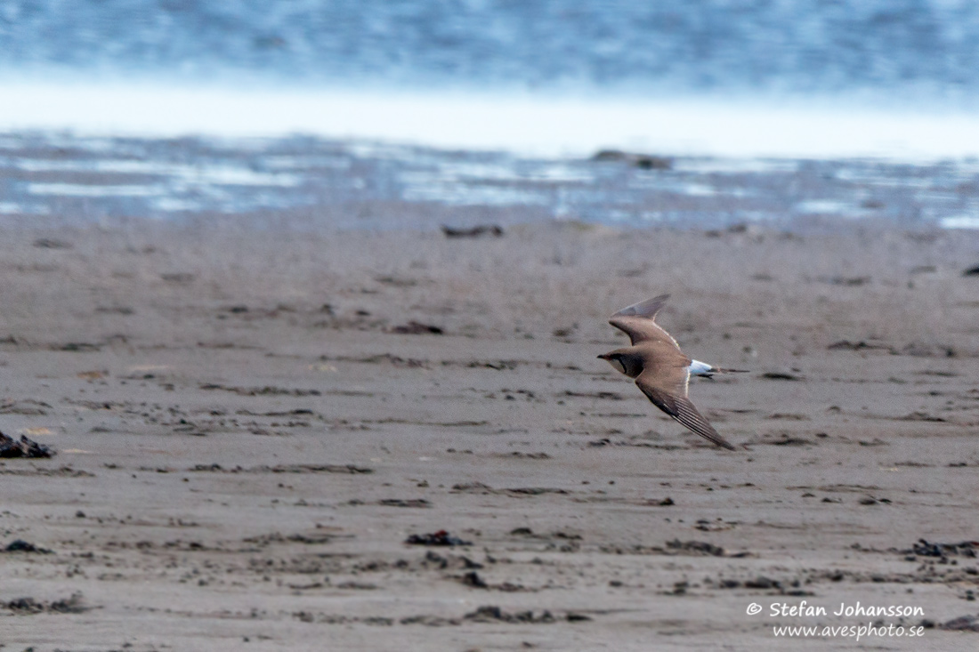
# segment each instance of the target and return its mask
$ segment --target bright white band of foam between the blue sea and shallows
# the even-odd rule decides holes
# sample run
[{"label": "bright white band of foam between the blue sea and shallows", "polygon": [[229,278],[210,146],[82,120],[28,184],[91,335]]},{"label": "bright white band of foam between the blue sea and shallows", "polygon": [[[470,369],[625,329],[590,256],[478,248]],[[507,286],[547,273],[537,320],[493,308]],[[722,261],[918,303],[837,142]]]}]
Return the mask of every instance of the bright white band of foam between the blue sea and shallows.
[{"label": "bright white band of foam between the blue sea and shallows", "polygon": [[[596,91],[597,93],[597,91]],[[35,83],[0,80],[0,130],[275,137],[309,133],[440,148],[587,156],[602,148],[730,158],[979,154],[979,116],[826,101],[629,99]]]}]

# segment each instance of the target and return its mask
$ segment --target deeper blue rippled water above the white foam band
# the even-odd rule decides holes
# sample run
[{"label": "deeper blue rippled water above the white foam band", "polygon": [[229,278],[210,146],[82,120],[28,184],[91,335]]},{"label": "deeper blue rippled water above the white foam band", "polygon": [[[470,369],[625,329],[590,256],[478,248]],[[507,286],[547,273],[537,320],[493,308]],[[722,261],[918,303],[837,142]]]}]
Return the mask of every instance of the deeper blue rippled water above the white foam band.
[{"label": "deeper blue rippled water above the white foam band", "polygon": [[846,93],[974,106],[968,0],[2,0],[0,75]]}]

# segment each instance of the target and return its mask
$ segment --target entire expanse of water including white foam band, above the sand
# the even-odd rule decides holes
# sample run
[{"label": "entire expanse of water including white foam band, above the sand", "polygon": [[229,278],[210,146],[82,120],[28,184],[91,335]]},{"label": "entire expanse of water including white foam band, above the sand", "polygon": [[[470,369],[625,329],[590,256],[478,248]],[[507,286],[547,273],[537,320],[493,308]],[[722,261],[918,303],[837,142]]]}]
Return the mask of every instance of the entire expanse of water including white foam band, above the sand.
[{"label": "entire expanse of water including white foam band, above the sand", "polygon": [[979,228],[977,44],[962,0],[0,0],[0,220]]}]

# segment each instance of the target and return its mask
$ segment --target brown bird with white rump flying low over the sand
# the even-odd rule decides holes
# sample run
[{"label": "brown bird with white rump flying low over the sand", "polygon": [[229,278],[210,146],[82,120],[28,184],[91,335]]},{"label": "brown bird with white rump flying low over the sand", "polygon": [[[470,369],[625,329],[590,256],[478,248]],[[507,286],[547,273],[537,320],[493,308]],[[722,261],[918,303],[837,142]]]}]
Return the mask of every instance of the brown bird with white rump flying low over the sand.
[{"label": "brown bird with white rump flying low over the sand", "polygon": [[629,378],[634,378],[642,393],[676,421],[697,435],[734,450],[734,446],[714,430],[714,426],[686,396],[691,374],[711,378],[717,373],[740,370],[722,369],[684,355],[676,340],[655,321],[656,313],[668,299],[670,295],[660,295],[629,305],[612,315],[609,323],[625,331],[632,346],[602,353],[598,357],[607,360]]}]

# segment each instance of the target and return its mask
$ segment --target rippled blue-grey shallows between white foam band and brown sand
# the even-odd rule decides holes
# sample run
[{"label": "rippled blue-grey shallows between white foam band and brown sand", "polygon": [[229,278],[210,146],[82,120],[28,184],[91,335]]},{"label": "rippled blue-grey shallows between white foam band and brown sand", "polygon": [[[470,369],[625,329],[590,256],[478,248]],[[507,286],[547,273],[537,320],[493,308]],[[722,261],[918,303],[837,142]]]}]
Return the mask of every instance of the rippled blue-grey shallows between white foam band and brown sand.
[{"label": "rippled blue-grey shallows between white foam band and brown sand", "polygon": [[537,160],[312,137],[0,134],[0,223],[213,219],[302,228],[574,220],[979,228],[979,162]]}]

